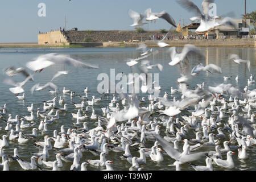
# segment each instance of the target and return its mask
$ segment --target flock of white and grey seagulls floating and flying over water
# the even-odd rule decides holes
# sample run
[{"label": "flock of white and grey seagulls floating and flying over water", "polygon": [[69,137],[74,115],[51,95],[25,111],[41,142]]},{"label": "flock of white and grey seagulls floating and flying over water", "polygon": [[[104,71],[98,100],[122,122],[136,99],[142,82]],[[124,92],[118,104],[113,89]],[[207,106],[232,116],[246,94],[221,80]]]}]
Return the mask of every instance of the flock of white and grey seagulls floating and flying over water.
[{"label": "flock of white and grey seagulls floating and flying over water", "polygon": [[[179,1],[184,6],[192,7],[192,2]],[[204,1],[210,3],[213,1]],[[203,9],[206,6],[203,6]],[[198,9],[198,8],[197,8]],[[205,9],[204,9],[205,10]],[[135,14],[129,11],[130,15]],[[152,14],[147,10],[150,20],[154,18],[169,17],[167,13]],[[131,15],[133,17],[133,15]],[[135,15],[134,15],[135,16]],[[142,15],[139,15],[141,23]],[[201,19],[210,21],[207,16],[201,14]],[[164,18],[167,19],[167,18]],[[173,20],[173,19],[172,19]],[[168,21],[168,20],[167,20]],[[175,26],[174,21],[172,21]],[[171,24],[172,24],[171,23]],[[141,57],[130,59],[127,65],[131,71],[148,73],[157,67],[161,72],[161,64],[150,65],[145,60],[154,53],[152,48],[140,44],[138,50],[142,50]],[[188,85],[188,81],[199,77],[202,71],[222,73],[222,69],[214,64],[197,64],[191,67],[189,56],[198,55],[204,58],[204,53],[195,46],[187,44],[183,51],[177,52],[175,47],[167,49],[170,52],[171,67],[180,70],[181,77],[177,79],[177,88],[170,88],[170,93],[165,92],[163,97],[140,97],[135,93],[122,92],[119,96],[110,94],[108,90],[102,97],[88,96],[93,92],[90,88],[84,89],[84,96],[77,95],[76,90],[66,89],[59,91],[53,84],[53,80],[61,75],[67,75],[69,71],[59,71],[48,83],[40,86],[35,84],[30,89],[31,94],[36,91],[47,92],[49,88],[49,100],[44,101],[42,107],[27,106],[28,115],[13,115],[8,113],[8,104],[0,107],[0,121],[5,123],[1,128],[3,135],[0,139],[0,168],[9,170],[12,163],[18,163],[21,169],[42,171],[61,170],[64,164],[69,165],[70,170],[86,171],[87,167],[101,170],[117,170],[113,168],[113,156],[123,160],[129,165],[127,170],[143,170],[148,160],[151,163],[163,163],[164,158],[174,159],[176,170],[183,169],[183,165],[189,165],[196,171],[212,171],[214,166],[223,169],[233,169],[233,158],[244,160],[250,158],[248,150],[256,145],[256,130],[254,122],[254,108],[256,107],[256,90],[249,90],[246,86],[242,91],[228,84],[232,77],[224,77],[224,82],[219,85],[197,84],[195,87]],[[250,71],[250,61],[242,60],[238,55],[230,55],[230,60],[236,64],[245,64]],[[139,64],[138,64],[139,63]],[[25,68],[11,66],[3,69],[8,76],[3,82],[12,85],[10,92],[15,94],[18,100],[26,100],[24,87],[28,81],[35,81],[34,75],[40,74],[44,69],[54,64],[67,64],[79,68],[97,69],[97,65],[84,63],[71,57],[48,53],[26,63],[29,73]],[[23,75],[23,82],[14,81],[15,76]],[[139,77],[139,79],[144,79]],[[146,82],[148,77],[146,78]],[[236,81],[238,81],[238,76]],[[248,85],[255,82],[254,76],[248,79]],[[131,80],[129,84],[134,84]],[[208,87],[207,87],[208,86]],[[147,85],[141,89],[147,92]],[[154,88],[161,90],[161,87]],[[20,96],[22,94],[22,96]],[[55,97],[52,98],[52,94]],[[66,104],[65,96],[77,98],[81,103]],[[108,101],[108,105],[101,102]],[[96,113],[95,106],[101,106],[101,113]],[[72,115],[76,123],[68,121],[69,126],[61,125],[56,128],[56,123],[64,119],[64,115]],[[50,132],[53,130],[53,133]],[[68,128],[68,129],[67,129]],[[24,133],[24,129],[31,129],[32,133]],[[41,132],[40,134],[39,131]],[[40,138],[43,137],[41,141]],[[10,143],[11,141],[11,143]],[[39,152],[29,152],[30,161],[24,160],[19,155],[18,148],[14,148],[13,155],[8,148],[14,143],[39,148]],[[223,144],[223,147],[222,147]],[[9,153],[9,154],[5,154]],[[97,159],[86,159],[86,154],[93,154]],[[115,154],[112,157],[107,156]],[[238,155],[236,155],[238,154]],[[56,160],[49,160],[55,156]],[[109,160],[107,160],[107,159]],[[111,159],[112,158],[112,159]],[[205,158],[206,166],[196,164],[197,160]]]}]

